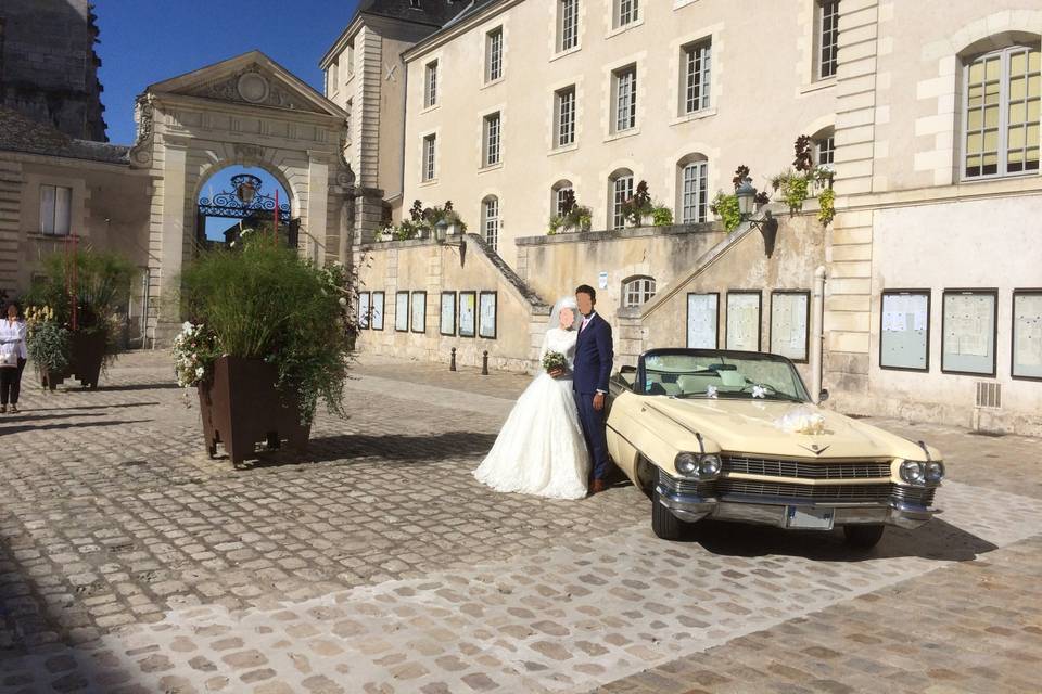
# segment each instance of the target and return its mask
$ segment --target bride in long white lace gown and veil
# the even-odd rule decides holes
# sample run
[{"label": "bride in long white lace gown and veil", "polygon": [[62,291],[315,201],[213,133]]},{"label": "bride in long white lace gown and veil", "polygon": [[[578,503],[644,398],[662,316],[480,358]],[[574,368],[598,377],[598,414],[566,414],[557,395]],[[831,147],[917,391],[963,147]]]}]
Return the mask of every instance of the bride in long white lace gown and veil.
[{"label": "bride in long white lace gown and veil", "polygon": [[517,491],[554,499],[586,496],[589,454],[572,395],[575,313],[571,297],[559,300],[539,350],[543,357],[564,355],[567,369],[554,377],[545,371],[525,388],[510,411],[496,442],[474,477],[497,491]]}]

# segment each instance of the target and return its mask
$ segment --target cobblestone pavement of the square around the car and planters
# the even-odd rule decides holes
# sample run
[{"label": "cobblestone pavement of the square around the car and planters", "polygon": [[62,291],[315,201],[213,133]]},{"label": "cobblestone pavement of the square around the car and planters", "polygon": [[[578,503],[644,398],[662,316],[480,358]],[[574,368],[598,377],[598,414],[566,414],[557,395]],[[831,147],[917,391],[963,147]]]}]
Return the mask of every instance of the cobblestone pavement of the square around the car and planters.
[{"label": "cobblestone pavement of the square around the car and planters", "polygon": [[234,470],[169,373],[128,355],[0,419],[0,692],[1039,691],[1038,440],[879,422],[951,481],[866,554],[665,543],[632,487],[473,481],[524,377],[370,360],[307,460]]}]

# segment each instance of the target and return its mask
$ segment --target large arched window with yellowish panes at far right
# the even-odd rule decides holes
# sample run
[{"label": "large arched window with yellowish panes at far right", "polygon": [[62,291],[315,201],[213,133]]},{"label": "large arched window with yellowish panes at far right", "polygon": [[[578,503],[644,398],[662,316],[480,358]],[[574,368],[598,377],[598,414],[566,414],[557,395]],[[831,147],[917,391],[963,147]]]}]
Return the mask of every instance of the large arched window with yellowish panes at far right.
[{"label": "large arched window with yellowish panes at far right", "polygon": [[1013,46],[966,65],[966,178],[1039,170],[1040,52]]}]

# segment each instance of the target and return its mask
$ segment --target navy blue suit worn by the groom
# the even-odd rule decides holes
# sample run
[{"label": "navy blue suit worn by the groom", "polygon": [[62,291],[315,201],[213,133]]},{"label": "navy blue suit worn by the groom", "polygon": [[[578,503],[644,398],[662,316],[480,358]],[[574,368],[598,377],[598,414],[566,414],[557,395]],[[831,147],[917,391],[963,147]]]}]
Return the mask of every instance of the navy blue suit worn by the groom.
[{"label": "navy blue suit worn by the groom", "polygon": [[594,479],[608,476],[608,442],[605,440],[605,410],[594,409],[594,396],[600,391],[608,395],[608,376],[614,351],[611,348],[611,325],[596,312],[590,316],[585,330],[580,330],[575,340],[575,365],[572,388],[583,436],[594,463]]}]

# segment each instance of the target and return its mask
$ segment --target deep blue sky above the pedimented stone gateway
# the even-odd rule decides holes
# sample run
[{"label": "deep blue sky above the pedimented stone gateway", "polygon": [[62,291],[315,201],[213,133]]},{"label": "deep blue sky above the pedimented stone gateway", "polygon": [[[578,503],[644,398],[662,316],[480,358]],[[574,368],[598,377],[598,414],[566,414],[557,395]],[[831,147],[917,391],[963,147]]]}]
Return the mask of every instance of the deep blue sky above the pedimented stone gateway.
[{"label": "deep blue sky above the pedimented stone gateway", "polygon": [[318,61],[357,0],[94,0],[109,140],[134,141],[134,99],[151,83],[257,49],[321,91]]}]

